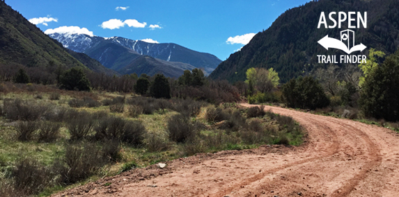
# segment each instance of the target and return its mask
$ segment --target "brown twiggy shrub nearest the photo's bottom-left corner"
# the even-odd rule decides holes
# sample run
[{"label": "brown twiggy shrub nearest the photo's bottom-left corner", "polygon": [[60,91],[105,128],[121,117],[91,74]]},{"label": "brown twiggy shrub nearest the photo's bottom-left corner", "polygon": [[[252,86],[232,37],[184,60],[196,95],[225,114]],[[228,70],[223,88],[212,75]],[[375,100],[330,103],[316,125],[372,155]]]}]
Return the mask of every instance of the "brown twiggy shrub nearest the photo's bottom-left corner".
[{"label": "brown twiggy shrub nearest the photo's bottom-left corner", "polygon": [[41,166],[38,161],[25,158],[17,161],[13,171],[15,189],[23,191],[25,194],[38,194],[47,185],[51,177],[45,166]]}]

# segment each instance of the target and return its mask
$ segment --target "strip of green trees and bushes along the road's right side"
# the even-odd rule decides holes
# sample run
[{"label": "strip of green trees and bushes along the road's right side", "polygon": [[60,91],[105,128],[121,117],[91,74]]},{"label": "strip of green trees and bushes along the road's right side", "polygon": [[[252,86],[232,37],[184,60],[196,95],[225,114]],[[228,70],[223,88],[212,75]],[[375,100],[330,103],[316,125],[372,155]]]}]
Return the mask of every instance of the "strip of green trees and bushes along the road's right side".
[{"label": "strip of green trees and bushes along the road's right side", "polygon": [[399,132],[399,51],[386,56],[370,49],[366,63],[314,70],[279,85],[273,69],[251,68],[247,80],[235,86],[250,104],[353,119]]}]

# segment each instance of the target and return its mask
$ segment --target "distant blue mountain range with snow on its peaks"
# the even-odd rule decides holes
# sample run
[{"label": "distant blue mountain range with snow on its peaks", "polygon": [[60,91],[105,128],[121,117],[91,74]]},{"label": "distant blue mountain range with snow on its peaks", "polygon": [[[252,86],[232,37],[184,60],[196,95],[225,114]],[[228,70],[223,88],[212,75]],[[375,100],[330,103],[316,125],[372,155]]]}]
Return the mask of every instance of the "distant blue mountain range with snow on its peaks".
[{"label": "distant blue mountain range with snow on its peaks", "polygon": [[[204,69],[206,73],[210,74],[219,65],[221,60],[210,53],[201,53],[187,49],[183,46],[174,43],[149,43],[141,40],[130,40],[124,37],[98,37],[90,36],[85,34],[69,34],[69,33],[52,33],[49,34],[58,42],[61,42],[65,48],[77,51],[80,53],[86,53],[102,63],[105,67],[111,69],[123,69],[130,62],[125,61],[126,65],[121,65],[120,61],[118,65],[114,65],[114,62],[110,62],[109,56],[105,53],[114,50],[110,43],[119,46],[124,46],[131,51],[129,53],[123,53],[124,55],[132,55],[132,57],[124,57],[123,60],[134,60],[139,55],[148,55],[152,58],[165,60],[167,62],[182,62],[188,65],[192,65],[196,68]],[[107,45],[107,47],[104,47]],[[114,45],[114,46],[116,46]],[[110,48],[111,47],[111,48]],[[121,49],[118,49],[120,51]],[[134,51],[134,52],[132,52]],[[117,53],[114,53],[117,54]],[[122,54],[122,53],[121,53]],[[113,55],[113,58],[114,57]]]}]

